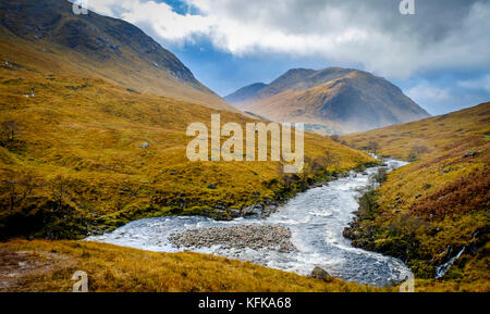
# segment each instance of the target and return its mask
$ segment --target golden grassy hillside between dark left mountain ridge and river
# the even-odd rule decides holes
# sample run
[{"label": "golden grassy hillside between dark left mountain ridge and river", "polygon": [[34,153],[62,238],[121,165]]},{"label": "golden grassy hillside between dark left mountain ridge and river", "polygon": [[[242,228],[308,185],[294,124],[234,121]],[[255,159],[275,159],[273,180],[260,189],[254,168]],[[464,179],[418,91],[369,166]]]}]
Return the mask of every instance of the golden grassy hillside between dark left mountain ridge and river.
[{"label": "golden grassy hillside between dark left mountain ridge and river", "polygon": [[[231,218],[372,161],[307,134],[299,176],[283,174],[277,162],[189,162],[187,125],[209,124],[212,109],[102,79],[42,74],[22,61],[0,67],[3,237],[83,237],[156,215]],[[221,120],[250,122],[225,111]]]}]

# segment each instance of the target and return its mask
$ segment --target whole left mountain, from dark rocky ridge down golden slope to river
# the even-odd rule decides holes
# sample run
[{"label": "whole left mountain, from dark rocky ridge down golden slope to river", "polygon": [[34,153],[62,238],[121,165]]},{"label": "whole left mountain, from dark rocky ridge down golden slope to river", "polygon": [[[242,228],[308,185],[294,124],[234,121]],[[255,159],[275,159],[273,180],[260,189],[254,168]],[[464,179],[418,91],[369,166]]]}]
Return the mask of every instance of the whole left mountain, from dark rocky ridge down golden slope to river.
[{"label": "whole left mountain, from dark rocky ridge down golden slope to river", "polygon": [[327,167],[372,161],[305,134],[314,169],[302,176],[280,162],[191,162],[189,124],[209,127],[221,112],[222,124],[244,126],[252,116],[123,21],[74,15],[62,0],[2,1],[0,17],[1,239],[79,238],[158,215],[229,219]]}]

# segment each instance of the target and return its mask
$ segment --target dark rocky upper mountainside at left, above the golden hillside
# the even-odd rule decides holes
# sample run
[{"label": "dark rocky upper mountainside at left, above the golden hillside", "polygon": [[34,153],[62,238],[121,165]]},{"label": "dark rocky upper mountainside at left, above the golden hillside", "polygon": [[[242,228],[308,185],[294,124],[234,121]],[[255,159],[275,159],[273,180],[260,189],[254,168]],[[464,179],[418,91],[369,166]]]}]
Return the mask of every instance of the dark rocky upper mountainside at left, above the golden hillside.
[{"label": "dark rocky upper mountainside at left, above the golden hillside", "polygon": [[[136,26],[94,12],[75,15],[65,0],[0,2],[0,46],[52,74],[100,77],[137,92],[236,110],[200,84],[170,51]],[[5,49],[2,49],[5,51]]]}]

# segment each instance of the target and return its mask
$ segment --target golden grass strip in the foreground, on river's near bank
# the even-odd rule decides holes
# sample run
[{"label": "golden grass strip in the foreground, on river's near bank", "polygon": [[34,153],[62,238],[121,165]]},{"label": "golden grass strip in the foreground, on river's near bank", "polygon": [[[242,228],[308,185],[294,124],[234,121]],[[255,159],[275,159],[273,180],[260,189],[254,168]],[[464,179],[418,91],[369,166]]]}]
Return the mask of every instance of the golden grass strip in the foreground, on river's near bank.
[{"label": "golden grass strip in the foreground, on river's near bank", "polygon": [[197,253],[155,253],[77,241],[0,243],[0,291],[72,291],[84,271],[89,291],[327,292],[381,291],[328,282],[248,262]]}]

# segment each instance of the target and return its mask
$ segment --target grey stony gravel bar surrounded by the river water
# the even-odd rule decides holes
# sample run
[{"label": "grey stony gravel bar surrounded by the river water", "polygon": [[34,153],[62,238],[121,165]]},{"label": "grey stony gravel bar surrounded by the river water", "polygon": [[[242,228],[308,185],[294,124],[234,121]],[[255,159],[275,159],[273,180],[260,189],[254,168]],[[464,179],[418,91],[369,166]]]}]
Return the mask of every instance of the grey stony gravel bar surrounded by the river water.
[{"label": "grey stony gravel bar surrounded by the river water", "polygon": [[253,250],[268,249],[281,253],[296,251],[291,230],[279,225],[236,225],[189,229],[172,234],[169,241],[176,248],[211,248]]}]

